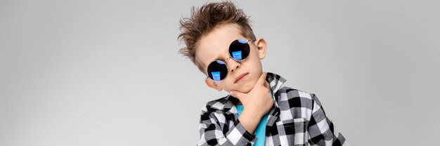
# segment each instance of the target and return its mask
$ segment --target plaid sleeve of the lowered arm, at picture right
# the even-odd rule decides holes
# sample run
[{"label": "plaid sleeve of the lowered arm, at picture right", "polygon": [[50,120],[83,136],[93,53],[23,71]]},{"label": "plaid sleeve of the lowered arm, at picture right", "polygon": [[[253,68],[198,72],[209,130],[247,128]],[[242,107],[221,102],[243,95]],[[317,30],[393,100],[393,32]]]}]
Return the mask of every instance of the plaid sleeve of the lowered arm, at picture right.
[{"label": "plaid sleeve of the lowered arm, at picture right", "polygon": [[315,94],[311,93],[312,114],[309,120],[309,142],[312,145],[349,145],[344,136],[337,132],[332,121],[325,115],[324,109]]}]

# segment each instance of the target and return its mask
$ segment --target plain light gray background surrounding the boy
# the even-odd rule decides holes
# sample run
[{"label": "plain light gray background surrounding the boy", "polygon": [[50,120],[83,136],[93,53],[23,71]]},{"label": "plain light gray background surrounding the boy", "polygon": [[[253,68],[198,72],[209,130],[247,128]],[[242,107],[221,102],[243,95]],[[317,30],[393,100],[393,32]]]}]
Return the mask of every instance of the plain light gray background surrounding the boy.
[{"label": "plain light gray background surrounding the boy", "polygon": [[[0,145],[195,145],[220,98],[178,54],[205,1],[0,1]],[[264,70],[315,93],[351,145],[437,145],[438,1],[236,1]]]}]

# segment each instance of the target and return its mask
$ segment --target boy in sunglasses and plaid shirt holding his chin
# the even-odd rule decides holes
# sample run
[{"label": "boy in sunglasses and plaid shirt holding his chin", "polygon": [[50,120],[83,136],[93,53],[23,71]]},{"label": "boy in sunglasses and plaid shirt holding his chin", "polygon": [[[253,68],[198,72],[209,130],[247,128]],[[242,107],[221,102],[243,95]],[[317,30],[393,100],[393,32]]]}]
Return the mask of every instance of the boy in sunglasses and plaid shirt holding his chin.
[{"label": "boy in sunglasses and plaid shirt holding his chin", "polygon": [[202,108],[198,145],[348,145],[316,95],[281,87],[283,77],[262,71],[266,41],[255,38],[241,9],[205,4],[180,24],[186,47],[179,53],[207,86],[230,93]]}]

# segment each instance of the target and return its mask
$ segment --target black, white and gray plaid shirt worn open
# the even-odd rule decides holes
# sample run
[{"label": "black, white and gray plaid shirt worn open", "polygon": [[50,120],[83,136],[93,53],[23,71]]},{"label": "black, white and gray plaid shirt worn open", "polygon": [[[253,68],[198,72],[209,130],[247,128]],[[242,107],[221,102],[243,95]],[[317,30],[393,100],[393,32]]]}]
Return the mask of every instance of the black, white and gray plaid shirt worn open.
[{"label": "black, white and gray plaid shirt worn open", "polygon": [[[268,72],[266,81],[276,101],[268,112],[265,145],[349,145],[316,95],[281,88],[286,80],[278,74]],[[198,145],[253,145],[257,141],[238,121],[237,102],[238,98],[227,95],[203,106]]]}]

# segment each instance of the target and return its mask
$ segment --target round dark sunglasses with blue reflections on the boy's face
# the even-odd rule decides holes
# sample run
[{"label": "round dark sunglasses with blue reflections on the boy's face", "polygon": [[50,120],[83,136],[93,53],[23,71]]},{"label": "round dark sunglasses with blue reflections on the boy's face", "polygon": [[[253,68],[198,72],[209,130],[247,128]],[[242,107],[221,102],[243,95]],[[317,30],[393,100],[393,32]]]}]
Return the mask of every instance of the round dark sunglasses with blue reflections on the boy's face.
[{"label": "round dark sunglasses with blue reflections on the boy's face", "polygon": [[[229,56],[226,58],[232,58],[235,61],[242,61],[247,58],[250,53],[250,46],[247,44],[251,40],[237,39],[232,41],[229,45]],[[207,75],[212,81],[221,81],[228,75],[228,65],[226,65],[226,60],[215,60],[209,63],[207,67]]]}]

